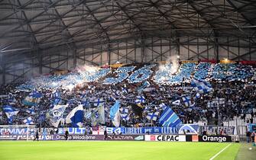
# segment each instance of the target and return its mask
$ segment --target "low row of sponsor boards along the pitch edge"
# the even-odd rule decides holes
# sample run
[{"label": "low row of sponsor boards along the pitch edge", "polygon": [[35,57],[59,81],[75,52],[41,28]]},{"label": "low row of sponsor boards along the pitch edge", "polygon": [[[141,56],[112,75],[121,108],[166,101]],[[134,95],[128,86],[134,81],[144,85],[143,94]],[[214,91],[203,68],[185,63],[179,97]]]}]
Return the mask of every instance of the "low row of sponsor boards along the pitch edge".
[{"label": "low row of sponsor boards along the pitch edge", "polygon": [[[0,140],[33,140],[34,135],[3,135]],[[40,134],[39,140],[66,140],[64,134]],[[238,142],[235,136],[201,136],[201,135],[84,135],[70,134],[68,140],[84,141],[154,141],[154,142]]]}]

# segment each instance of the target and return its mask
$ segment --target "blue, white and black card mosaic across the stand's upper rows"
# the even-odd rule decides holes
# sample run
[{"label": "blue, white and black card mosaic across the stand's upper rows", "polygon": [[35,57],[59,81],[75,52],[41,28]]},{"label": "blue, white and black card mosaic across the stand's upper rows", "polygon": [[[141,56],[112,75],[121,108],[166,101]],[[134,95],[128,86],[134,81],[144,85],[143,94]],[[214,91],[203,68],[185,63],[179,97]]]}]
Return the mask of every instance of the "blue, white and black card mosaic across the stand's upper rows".
[{"label": "blue, white and black card mosaic across the stand's upper rows", "polygon": [[186,62],[178,65],[157,63],[144,66],[128,65],[110,69],[84,66],[65,75],[42,75],[18,86],[19,89],[32,88],[75,88],[85,82],[98,82],[103,85],[116,85],[121,82],[141,83],[147,79],[158,85],[177,85],[191,80],[206,81],[247,81],[255,79],[256,71],[252,66],[241,64],[212,64],[210,62]]}]

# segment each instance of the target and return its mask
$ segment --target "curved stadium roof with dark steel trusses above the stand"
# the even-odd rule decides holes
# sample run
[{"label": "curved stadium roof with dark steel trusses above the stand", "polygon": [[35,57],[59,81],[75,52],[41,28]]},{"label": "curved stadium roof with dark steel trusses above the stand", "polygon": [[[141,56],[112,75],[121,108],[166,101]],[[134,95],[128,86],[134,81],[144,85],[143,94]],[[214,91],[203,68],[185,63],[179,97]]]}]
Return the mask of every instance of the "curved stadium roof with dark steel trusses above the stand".
[{"label": "curved stadium roof with dark steel trusses above the stand", "polygon": [[254,0],[0,0],[2,53],[141,37],[255,37]]}]

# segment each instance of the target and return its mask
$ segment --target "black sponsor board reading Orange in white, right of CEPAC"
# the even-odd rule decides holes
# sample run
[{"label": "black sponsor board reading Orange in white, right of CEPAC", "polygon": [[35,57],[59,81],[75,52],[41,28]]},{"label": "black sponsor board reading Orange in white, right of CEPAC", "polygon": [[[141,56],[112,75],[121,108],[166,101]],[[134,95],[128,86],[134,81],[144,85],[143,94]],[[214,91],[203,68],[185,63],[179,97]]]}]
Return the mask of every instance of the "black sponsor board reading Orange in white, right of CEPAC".
[{"label": "black sponsor board reading Orange in white, right of CEPAC", "polygon": [[198,136],[199,142],[232,142],[231,136]]}]

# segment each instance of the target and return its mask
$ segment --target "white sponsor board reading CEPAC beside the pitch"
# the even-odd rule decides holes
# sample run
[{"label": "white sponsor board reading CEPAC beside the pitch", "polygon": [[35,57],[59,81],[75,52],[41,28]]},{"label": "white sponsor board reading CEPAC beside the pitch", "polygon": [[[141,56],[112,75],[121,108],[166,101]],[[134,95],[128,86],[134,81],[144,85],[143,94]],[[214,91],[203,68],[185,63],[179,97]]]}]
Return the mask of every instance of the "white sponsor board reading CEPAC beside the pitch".
[{"label": "white sponsor board reading CEPAC beside the pitch", "polygon": [[186,142],[185,135],[145,135],[145,141]]}]

